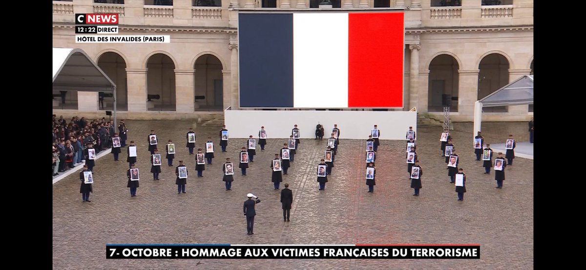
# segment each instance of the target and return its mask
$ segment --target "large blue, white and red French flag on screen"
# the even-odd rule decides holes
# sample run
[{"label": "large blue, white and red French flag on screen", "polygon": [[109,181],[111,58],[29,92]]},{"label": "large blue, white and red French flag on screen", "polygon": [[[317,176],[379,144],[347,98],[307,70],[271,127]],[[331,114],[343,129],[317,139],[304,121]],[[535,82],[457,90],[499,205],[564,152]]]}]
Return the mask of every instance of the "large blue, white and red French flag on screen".
[{"label": "large blue, white and red French flag on screen", "polygon": [[240,107],[403,107],[403,12],[240,13]]}]

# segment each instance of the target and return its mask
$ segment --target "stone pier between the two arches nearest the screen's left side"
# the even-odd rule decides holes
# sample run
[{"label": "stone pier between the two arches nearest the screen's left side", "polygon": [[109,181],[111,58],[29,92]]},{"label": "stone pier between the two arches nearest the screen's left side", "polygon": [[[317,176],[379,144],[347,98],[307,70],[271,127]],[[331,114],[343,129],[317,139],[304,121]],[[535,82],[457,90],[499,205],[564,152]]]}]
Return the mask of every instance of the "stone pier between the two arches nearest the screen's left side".
[{"label": "stone pier between the two arches nearest the screen's left side", "polygon": [[195,70],[175,70],[175,110],[178,113],[192,113],[195,103],[193,74]]}]

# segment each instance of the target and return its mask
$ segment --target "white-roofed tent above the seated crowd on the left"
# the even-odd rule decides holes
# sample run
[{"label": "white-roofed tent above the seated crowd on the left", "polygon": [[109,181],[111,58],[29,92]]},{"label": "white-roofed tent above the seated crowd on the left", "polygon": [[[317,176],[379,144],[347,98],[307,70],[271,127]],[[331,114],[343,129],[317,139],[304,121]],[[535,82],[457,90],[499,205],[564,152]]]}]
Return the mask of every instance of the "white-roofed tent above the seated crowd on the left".
[{"label": "white-roofed tent above the seated crowd on the left", "polygon": [[85,51],[53,48],[53,91],[112,92],[116,123],[116,85]]}]

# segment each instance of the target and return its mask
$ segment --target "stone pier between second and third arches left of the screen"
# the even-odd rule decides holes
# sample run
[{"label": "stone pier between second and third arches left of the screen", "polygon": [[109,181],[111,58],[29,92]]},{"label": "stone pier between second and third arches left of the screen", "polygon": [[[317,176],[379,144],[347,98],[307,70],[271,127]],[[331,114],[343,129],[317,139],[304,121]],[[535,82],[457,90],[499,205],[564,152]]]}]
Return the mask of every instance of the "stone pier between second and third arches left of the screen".
[{"label": "stone pier between second and third arches left of the screen", "polygon": [[127,68],[128,112],[147,111],[147,68]]}]

